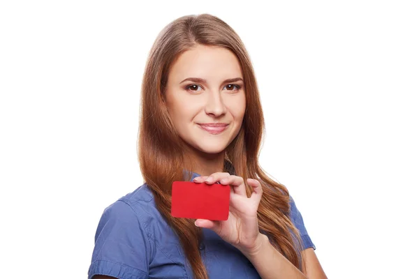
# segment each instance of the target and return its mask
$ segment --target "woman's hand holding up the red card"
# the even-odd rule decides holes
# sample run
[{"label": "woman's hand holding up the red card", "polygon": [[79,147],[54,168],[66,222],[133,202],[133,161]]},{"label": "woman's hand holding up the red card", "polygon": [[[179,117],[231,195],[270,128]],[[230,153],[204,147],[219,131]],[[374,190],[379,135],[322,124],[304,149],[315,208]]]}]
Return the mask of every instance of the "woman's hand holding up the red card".
[{"label": "woman's hand holding up the red card", "polygon": [[198,176],[196,183],[214,184],[220,182],[230,185],[230,212],[228,220],[213,221],[197,219],[195,225],[212,229],[221,239],[227,241],[244,254],[256,252],[263,242],[263,234],[259,232],[258,206],[262,197],[262,186],[256,179],[247,179],[253,188],[251,197],[247,197],[244,180],[240,176],[228,172],[216,172],[210,176]]}]

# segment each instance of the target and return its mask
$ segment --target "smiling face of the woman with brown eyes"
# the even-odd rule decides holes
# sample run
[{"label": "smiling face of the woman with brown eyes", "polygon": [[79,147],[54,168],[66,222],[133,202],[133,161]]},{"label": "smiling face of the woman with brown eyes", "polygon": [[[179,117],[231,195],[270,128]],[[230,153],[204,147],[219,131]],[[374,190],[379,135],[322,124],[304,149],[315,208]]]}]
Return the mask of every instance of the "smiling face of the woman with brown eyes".
[{"label": "smiling face of the woman with brown eyes", "polygon": [[[182,140],[205,153],[220,153],[242,126],[246,96],[240,63],[223,47],[198,45],[172,65],[166,105]],[[223,124],[218,128],[205,125]]]}]

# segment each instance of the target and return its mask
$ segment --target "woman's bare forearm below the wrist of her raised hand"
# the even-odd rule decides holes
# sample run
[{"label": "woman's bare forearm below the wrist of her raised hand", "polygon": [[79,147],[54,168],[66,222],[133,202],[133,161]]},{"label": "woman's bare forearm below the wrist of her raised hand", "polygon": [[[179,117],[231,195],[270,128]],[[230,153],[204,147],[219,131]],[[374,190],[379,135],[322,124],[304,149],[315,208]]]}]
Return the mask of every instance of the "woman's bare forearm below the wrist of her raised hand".
[{"label": "woman's bare forearm below the wrist of her raised hand", "polygon": [[244,255],[253,264],[263,279],[281,279],[281,278],[305,278],[284,255],[272,246],[265,234],[260,235],[258,248],[252,252],[244,252]]}]

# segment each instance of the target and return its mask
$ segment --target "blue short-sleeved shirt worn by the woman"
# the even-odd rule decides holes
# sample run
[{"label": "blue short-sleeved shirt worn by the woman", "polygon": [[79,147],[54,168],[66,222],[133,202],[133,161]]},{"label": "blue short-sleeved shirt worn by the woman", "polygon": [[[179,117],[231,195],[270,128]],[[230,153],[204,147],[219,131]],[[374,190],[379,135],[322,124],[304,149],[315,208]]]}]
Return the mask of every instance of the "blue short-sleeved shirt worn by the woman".
[{"label": "blue short-sleeved shirt worn by the woman", "polygon": [[[192,179],[196,176],[200,175],[193,172]],[[292,197],[290,205],[303,249],[316,249]],[[203,228],[203,234],[199,249],[210,278],[260,278],[240,250],[211,229]],[[103,211],[94,239],[89,279],[98,274],[119,279],[193,278],[182,246],[156,209],[147,183]]]}]

